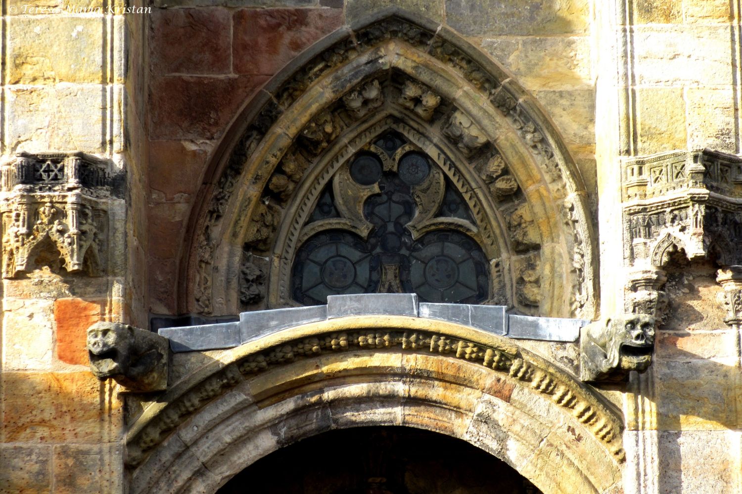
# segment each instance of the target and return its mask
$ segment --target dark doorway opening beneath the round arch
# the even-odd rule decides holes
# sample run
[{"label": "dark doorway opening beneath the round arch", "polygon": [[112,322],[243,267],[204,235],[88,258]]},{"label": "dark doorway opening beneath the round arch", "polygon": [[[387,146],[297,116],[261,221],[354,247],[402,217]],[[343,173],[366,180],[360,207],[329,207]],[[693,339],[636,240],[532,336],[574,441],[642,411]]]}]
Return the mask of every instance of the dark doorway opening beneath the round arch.
[{"label": "dark doorway opening beneath the round arch", "polygon": [[324,432],[261,458],[220,494],[540,494],[466,441],[410,427]]}]

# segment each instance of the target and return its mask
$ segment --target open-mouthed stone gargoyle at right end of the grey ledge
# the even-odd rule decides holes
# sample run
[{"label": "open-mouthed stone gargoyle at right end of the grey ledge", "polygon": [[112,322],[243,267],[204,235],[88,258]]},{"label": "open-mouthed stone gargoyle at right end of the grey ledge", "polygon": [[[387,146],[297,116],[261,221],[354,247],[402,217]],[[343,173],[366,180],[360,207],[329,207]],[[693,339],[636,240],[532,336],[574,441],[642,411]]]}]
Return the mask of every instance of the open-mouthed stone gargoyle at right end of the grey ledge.
[{"label": "open-mouthed stone gargoyle at right end of the grey ledge", "polygon": [[580,329],[580,379],[622,381],[630,371],[644,372],[654,350],[654,317],[626,314]]}]

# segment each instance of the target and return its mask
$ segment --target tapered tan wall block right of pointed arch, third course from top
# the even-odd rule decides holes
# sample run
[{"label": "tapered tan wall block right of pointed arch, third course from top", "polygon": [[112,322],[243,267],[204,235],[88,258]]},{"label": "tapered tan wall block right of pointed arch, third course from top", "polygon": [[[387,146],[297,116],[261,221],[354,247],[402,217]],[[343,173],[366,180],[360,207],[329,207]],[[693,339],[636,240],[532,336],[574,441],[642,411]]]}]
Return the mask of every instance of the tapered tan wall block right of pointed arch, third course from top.
[{"label": "tapered tan wall block right of pointed arch, third course from top", "polygon": [[595,153],[595,90],[537,90],[534,96],[554,119],[572,154]]}]

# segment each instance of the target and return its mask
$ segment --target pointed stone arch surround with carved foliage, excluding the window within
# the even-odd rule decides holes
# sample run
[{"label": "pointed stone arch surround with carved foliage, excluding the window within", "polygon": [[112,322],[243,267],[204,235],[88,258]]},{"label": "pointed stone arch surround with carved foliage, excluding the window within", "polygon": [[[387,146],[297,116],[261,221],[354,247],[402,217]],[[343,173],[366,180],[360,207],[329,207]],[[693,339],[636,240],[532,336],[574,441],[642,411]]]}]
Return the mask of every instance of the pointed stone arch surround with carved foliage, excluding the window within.
[{"label": "pointed stone arch surround with carved foliage, excluding the window within", "polygon": [[[387,13],[335,33],[269,83],[239,125],[194,212],[183,312],[291,305],[292,255],[322,191],[393,130],[464,197],[498,300],[525,314],[593,316],[594,239],[574,162],[531,96],[444,27]],[[344,219],[367,234],[362,215]],[[265,274],[267,300],[240,297],[245,282],[229,273],[245,263]]]}]

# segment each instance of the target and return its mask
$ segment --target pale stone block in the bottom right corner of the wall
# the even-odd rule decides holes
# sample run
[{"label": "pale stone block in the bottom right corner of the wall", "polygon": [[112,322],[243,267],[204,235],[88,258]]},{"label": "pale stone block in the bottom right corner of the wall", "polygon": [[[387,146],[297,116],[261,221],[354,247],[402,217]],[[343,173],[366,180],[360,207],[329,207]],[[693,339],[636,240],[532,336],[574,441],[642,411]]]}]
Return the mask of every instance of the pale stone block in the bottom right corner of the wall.
[{"label": "pale stone block in the bottom right corner of the wall", "polygon": [[659,432],[657,443],[661,494],[734,492],[740,445],[733,432]]}]

